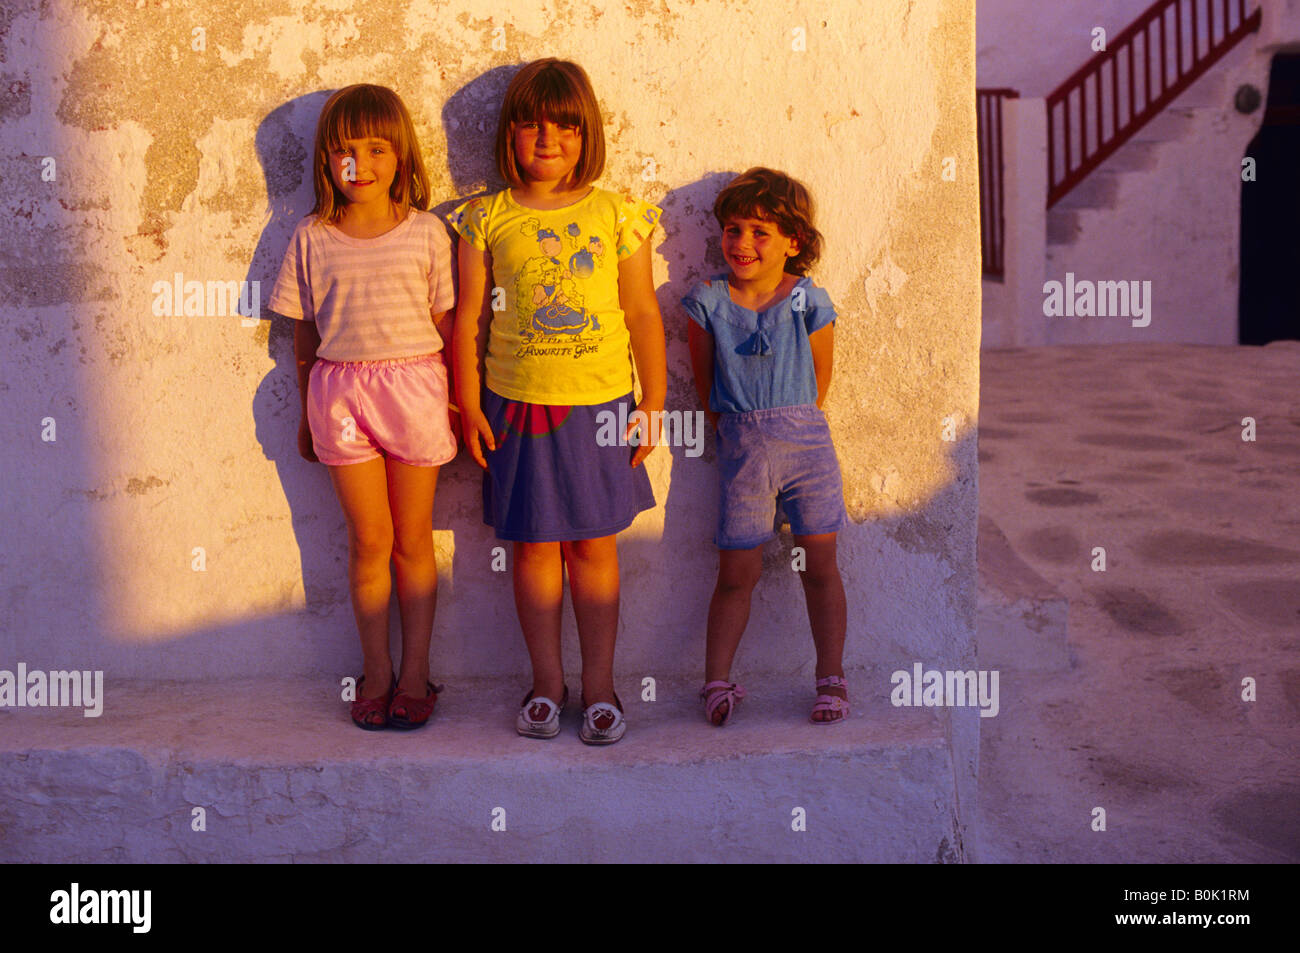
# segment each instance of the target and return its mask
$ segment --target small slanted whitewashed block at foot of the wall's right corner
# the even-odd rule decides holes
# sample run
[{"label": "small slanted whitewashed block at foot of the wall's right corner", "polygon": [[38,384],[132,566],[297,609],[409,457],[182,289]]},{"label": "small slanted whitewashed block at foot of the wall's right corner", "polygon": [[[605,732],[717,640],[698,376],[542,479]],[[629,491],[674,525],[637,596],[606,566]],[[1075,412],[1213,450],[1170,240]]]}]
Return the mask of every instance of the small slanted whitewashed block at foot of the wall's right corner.
[{"label": "small slanted whitewashed block at foot of the wall's right corner", "polygon": [[1072,662],[1070,601],[1020,559],[988,516],[979,519],[975,644],[980,668],[1063,672]]}]

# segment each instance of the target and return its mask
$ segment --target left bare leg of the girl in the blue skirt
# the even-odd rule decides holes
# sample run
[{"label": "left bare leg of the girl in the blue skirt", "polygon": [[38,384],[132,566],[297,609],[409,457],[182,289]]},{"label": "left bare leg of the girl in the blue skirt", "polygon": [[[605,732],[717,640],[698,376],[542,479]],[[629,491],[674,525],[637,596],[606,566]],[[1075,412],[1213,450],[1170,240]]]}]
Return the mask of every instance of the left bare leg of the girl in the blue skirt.
[{"label": "left bare leg of the girl in the blue skirt", "polygon": [[564,694],[560,606],[564,569],[558,542],[515,543],[515,610],[533,662],[533,694],[559,705]]}]

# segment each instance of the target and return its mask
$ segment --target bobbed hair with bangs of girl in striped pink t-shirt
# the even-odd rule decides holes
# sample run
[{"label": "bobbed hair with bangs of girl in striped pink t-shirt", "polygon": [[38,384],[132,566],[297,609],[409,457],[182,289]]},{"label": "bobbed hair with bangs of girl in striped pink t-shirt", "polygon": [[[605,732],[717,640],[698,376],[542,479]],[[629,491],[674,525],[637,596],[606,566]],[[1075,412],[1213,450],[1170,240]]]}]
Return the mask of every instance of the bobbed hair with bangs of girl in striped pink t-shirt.
[{"label": "bobbed hair with bangs of girl in striped pink t-shirt", "polygon": [[411,113],[393,90],[358,83],[344,86],[330,96],[316,122],[316,159],[312,164],[316,208],[312,211],[322,221],[337,222],[347,205],[347,198],[329,174],[329,153],[342,148],[346,139],[370,138],[393,143],[398,172],[393,177],[389,198],[399,213],[404,217],[412,205],[428,211],[429,174],[420,157]]}]

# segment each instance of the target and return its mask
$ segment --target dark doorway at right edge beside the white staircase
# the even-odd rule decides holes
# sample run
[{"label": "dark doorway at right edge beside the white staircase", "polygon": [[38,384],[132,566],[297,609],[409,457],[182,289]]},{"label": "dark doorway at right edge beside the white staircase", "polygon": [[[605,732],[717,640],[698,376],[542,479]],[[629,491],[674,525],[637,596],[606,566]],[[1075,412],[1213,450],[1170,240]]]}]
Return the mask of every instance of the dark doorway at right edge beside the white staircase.
[{"label": "dark doorway at right edge beside the white staircase", "polygon": [[1300,53],[1278,53],[1264,125],[1245,151],[1254,182],[1242,182],[1243,345],[1300,338]]}]

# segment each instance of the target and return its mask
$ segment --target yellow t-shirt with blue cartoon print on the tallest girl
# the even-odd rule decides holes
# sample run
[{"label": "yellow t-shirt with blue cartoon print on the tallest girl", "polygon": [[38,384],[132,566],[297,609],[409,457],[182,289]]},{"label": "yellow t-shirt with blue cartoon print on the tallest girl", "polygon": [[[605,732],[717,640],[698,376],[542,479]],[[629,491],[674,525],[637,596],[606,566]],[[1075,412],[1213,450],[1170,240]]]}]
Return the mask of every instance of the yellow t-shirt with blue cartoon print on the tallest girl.
[{"label": "yellow t-shirt with blue cartoon print on the tallest girl", "polygon": [[447,216],[469,244],[491,254],[485,369],[493,391],[572,406],[632,390],[619,261],[650,237],[660,211],[603,189],[564,208],[524,208],[506,190]]}]

